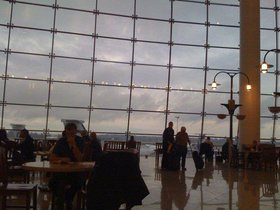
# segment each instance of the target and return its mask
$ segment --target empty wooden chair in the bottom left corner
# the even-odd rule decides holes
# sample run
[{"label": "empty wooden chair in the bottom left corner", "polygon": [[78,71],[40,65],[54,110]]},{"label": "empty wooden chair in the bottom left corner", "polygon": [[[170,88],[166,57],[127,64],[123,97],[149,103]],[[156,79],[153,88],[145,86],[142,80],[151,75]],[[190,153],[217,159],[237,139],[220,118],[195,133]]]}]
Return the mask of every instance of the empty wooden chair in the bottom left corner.
[{"label": "empty wooden chair in the bottom left corner", "polygon": [[[8,183],[7,151],[0,147],[0,196],[2,198],[1,209],[25,208],[37,209],[37,185],[35,184],[10,184]],[[7,197],[12,195],[24,195],[25,205],[8,205]],[[33,200],[32,206],[30,205]]]}]

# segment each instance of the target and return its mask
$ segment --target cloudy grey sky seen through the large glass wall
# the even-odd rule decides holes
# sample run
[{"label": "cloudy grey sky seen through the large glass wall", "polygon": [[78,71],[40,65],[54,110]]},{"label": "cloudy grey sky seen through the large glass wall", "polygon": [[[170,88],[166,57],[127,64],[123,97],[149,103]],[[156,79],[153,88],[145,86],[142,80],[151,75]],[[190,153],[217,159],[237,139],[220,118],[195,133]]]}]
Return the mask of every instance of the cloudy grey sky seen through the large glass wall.
[{"label": "cloudy grey sky seen through the large glass wall", "polygon": [[[0,2],[0,71],[3,76],[7,68],[9,76],[6,86],[5,80],[0,81],[1,101],[6,91],[5,128],[20,123],[30,130],[60,131],[61,119],[79,119],[97,132],[125,133],[129,125],[131,133],[161,134],[170,70],[168,121],[174,121],[176,128],[179,116],[179,127],[186,126],[191,135],[201,133],[204,80],[211,83],[218,70],[239,68],[239,8],[219,3],[238,5],[239,1],[211,1],[208,34],[204,0],[173,2],[172,33],[169,0],[137,0],[136,19],[132,18],[134,0],[100,0],[97,4],[92,0],[58,0],[57,10],[52,8],[54,3]],[[261,0],[261,6],[261,27],[266,29],[261,32],[261,48],[275,48],[274,1]],[[14,27],[9,39],[11,11]],[[206,40],[210,45],[207,53]],[[11,53],[7,56],[8,46]],[[53,58],[49,56],[52,49]],[[274,56],[268,61],[275,63]],[[207,74],[205,65],[210,69]],[[228,92],[229,78],[220,76],[218,80],[222,84],[218,90]],[[275,91],[274,74],[262,76],[261,82],[262,93],[268,95],[262,96],[262,116],[266,118],[261,119],[261,135],[271,138],[273,121],[267,107],[274,103],[269,96]],[[238,78],[234,86],[237,92]],[[91,96],[94,109],[89,120]],[[238,96],[234,97],[238,102]],[[228,120],[215,116],[226,113],[220,103],[228,98],[227,93],[209,89],[203,133],[228,136]],[[234,134],[236,130],[237,121]],[[280,137],[279,132],[276,137]]]}]

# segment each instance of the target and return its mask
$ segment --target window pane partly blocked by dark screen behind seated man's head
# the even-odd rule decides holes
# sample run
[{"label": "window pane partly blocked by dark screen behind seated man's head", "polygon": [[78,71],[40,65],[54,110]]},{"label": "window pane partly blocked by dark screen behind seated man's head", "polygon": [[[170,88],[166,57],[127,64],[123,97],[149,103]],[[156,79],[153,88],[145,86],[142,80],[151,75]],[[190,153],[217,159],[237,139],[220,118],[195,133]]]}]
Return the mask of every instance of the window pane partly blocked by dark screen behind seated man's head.
[{"label": "window pane partly blocked by dark screen behind seated man's head", "polygon": [[[49,112],[49,122],[48,129],[63,131],[64,124],[61,121],[62,119],[71,119],[71,120],[81,120],[84,127],[88,127],[88,115],[89,112],[87,109],[71,109],[71,108],[54,108],[52,107]],[[60,134],[60,133],[59,133]]]}]

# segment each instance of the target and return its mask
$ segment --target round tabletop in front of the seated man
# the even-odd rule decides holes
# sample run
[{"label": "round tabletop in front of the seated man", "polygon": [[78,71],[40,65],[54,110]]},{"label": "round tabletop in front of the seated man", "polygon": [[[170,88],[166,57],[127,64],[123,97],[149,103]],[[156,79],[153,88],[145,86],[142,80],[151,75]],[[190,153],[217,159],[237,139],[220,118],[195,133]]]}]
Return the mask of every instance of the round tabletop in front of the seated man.
[{"label": "round tabletop in front of the seated man", "polygon": [[95,162],[51,163],[49,161],[27,162],[24,170],[40,172],[87,172],[93,169]]}]

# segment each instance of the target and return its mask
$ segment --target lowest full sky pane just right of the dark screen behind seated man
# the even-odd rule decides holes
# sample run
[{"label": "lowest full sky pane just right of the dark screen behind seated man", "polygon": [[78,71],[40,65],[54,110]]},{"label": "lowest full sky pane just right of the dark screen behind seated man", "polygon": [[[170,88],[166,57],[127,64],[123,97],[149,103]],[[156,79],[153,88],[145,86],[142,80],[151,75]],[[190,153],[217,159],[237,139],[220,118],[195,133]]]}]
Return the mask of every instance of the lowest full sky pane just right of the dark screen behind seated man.
[{"label": "lowest full sky pane just right of the dark screen behind seated man", "polygon": [[93,110],[90,124],[91,130],[95,132],[126,133],[127,112]]}]

